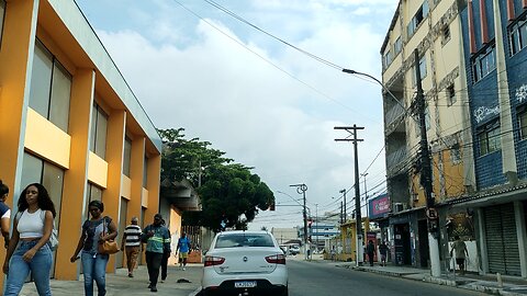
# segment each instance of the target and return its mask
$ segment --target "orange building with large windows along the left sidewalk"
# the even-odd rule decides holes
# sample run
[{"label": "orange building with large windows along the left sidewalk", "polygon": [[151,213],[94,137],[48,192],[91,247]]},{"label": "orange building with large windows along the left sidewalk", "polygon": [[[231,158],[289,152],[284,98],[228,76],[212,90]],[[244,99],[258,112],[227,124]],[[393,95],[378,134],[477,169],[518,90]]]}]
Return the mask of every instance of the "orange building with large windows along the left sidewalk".
[{"label": "orange building with large windows along the left sidewalk", "polygon": [[[78,278],[69,258],[90,201],[102,200],[121,234],[132,216],[152,223],[160,152],[154,124],[75,1],[0,0],[0,179],[13,213],[26,184],[48,189],[55,278]],[[109,272],[121,265],[122,253],[112,255]]]}]

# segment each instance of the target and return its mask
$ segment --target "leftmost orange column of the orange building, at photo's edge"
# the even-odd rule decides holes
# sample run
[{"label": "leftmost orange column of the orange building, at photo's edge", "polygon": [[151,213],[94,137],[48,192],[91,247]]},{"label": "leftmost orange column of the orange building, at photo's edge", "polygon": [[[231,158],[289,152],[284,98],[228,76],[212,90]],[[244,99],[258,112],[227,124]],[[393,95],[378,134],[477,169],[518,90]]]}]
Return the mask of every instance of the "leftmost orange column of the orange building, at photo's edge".
[{"label": "leftmost orange column of the orange building, at photo's edge", "polygon": [[[9,1],[0,50],[0,178],[10,189],[7,204],[18,202],[24,157],[25,117],[30,98],[38,1]],[[5,249],[0,249],[0,258]],[[0,291],[3,280],[0,278]]]}]

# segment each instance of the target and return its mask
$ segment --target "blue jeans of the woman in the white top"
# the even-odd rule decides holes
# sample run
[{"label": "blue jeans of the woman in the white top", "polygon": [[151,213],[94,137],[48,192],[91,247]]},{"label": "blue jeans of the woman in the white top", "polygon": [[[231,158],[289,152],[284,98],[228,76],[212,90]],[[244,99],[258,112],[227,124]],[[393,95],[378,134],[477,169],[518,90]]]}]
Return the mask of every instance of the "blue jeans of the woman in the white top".
[{"label": "blue jeans of the woman in the white top", "polygon": [[52,250],[46,243],[44,247],[36,251],[35,255],[30,262],[25,262],[22,258],[26,251],[33,248],[38,240],[34,241],[23,241],[20,240],[19,246],[11,257],[9,262],[9,274],[8,281],[5,282],[5,293],[4,296],[19,295],[22,286],[24,285],[25,278],[31,274],[33,281],[35,281],[36,291],[38,295],[52,295],[52,289],[49,288],[49,273],[52,271]]}]

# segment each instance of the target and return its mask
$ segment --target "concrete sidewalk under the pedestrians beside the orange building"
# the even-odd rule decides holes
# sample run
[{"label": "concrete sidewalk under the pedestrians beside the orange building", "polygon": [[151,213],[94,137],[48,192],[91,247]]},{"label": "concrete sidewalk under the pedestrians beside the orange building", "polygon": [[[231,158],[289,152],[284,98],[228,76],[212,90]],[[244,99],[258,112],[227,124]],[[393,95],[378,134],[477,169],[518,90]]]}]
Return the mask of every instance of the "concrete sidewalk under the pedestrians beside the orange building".
[{"label": "concrete sidewalk under the pedestrians beside the orange building", "polygon": [[[127,277],[126,269],[119,269],[114,274],[106,274],[106,295],[159,295],[159,296],[188,296],[194,295],[201,288],[203,264],[188,264],[186,271],[176,266],[168,267],[168,276],[165,283],[157,284],[157,293],[148,288],[148,272],[146,265],[141,265],[134,273],[134,277]],[[180,280],[181,283],[178,283]],[[190,282],[190,283],[187,283]],[[52,294],[54,296],[85,295],[82,276],[79,281],[52,280]],[[94,287],[97,295],[97,286]],[[22,288],[22,296],[37,296],[34,283],[26,283]]]}]

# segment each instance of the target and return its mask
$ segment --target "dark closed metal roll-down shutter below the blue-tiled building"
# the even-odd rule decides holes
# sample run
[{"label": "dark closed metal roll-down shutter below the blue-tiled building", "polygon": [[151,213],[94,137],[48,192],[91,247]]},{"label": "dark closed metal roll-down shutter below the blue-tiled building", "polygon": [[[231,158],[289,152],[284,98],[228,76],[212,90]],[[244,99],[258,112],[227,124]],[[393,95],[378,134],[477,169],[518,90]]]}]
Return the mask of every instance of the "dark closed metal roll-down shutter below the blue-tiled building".
[{"label": "dark closed metal roll-down shutter below the blue-tiled building", "polygon": [[522,276],[514,204],[484,208],[489,271]]}]

